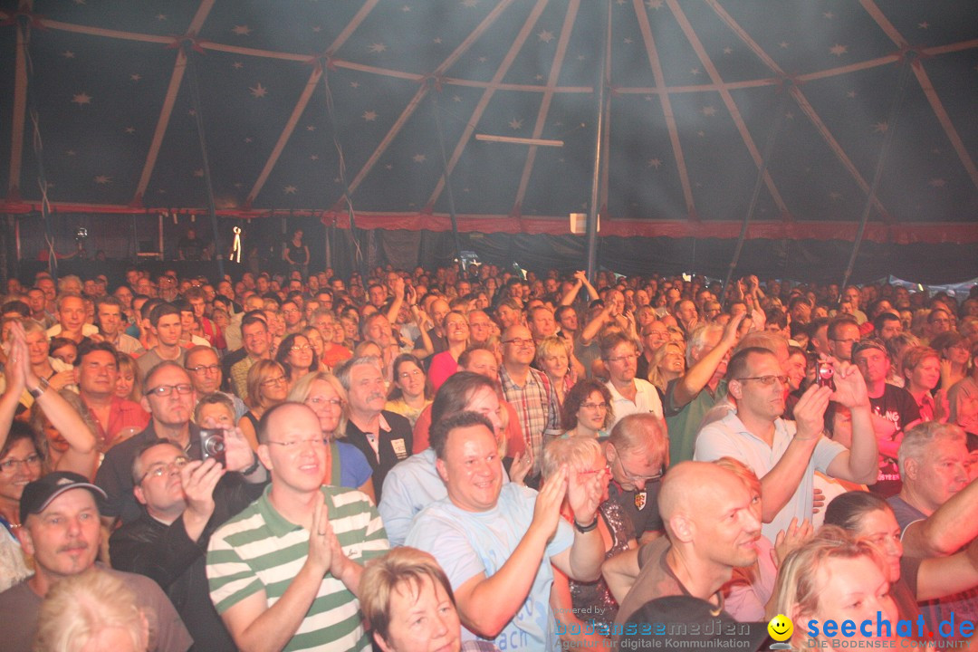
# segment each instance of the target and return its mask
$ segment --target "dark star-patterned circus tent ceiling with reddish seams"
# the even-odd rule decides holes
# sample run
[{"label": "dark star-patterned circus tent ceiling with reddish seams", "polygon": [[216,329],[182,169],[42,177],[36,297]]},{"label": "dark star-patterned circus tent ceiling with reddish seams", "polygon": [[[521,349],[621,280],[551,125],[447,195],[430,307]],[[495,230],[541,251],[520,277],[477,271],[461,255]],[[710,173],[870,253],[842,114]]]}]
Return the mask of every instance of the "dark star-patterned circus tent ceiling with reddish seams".
[{"label": "dark star-patterned circus tent ceiling with reddish seams", "polygon": [[3,212],[41,170],[56,211],[202,210],[209,177],[224,215],[566,233],[609,11],[602,235],[978,240],[971,0],[0,8]]}]

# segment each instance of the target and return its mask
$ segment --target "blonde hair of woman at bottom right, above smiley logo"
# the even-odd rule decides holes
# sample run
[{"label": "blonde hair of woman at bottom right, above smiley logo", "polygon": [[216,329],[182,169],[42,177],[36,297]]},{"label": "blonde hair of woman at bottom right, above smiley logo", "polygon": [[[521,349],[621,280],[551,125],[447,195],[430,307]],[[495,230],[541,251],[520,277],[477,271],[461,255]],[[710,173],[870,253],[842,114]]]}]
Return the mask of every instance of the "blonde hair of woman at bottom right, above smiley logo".
[{"label": "blonde hair of woman at bottom right, above smiley logo", "polygon": [[[797,622],[803,617],[815,618],[827,573],[825,565],[832,559],[867,557],[887,576],[882,551],[867,539],[835,525],[823,525],[818,534],[792,550],[778,569],[775,587],[775,611]],[[801,628],[795,629],[801,634]]]}]

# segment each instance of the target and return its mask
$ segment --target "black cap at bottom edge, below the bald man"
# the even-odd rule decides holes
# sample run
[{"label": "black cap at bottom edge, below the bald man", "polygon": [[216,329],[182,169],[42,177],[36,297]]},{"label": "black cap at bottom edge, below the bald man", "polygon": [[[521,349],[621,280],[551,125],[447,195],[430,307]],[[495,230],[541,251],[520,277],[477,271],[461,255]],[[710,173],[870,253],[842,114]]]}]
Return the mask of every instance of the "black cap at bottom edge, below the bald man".
[{"label": "black cap at bottom edge, below the bald man", "polygon": [[[615,627],[619,627],[618,624]],[[738,623],[721,608],[689,595],[670,595],[649,600],[632,614],[618,636],[618,649],[721,650],[731,640],[739,649],[754,652],[768,639],[766,623]]]}]

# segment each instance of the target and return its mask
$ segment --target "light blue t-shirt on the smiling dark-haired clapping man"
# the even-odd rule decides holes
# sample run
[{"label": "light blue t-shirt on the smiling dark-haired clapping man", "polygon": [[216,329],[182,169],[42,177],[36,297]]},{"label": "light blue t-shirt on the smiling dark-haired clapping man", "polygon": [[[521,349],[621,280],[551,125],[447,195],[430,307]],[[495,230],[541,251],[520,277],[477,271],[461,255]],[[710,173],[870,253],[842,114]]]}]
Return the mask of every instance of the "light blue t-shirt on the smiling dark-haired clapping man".
[{"label": "light blue t-shirt on the smiling dark-haired clapping man", "polygon": [[[451,499],[438,500],[418,514],[405,544],[434,555],[453,588],[461,587],[480,573],[490,577],[503,567],[529,530],[536,498],[534,490],[507,483],[496,507],[489,511],[466,511],[455,506]],[[503,652],[560,649],[550,611],[554,584],[550,558],[572,543],[574,533],[570,524],[561,518],[526,601],[494,641]],[[464,641],[477,638],[462,628]]]}]

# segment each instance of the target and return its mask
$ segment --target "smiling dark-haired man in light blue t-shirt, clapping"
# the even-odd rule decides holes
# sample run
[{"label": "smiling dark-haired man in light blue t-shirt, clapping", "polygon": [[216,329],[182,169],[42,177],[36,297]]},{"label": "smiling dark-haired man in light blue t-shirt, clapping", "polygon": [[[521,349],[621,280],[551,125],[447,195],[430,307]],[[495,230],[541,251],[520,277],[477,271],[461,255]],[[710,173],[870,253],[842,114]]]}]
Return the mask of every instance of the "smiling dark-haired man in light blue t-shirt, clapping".
[{"label": "smiling dark-haired man in light blue t-shirt, clapping", "polygon": [[[585,478],[564,467],[536,494],[504,483],[493,426],[482,414],[454,414],[433,428],[448,497],[422,510],[406,543],[430,552],[445,569],[463,640],[496,639],[507,650],[559,649],[551,564],[580,582],[598,579],[600,473]],[[573,528],[560,517],[564,500]]]}]

